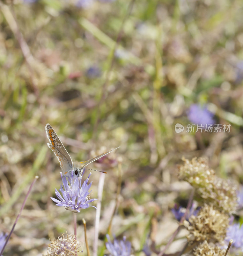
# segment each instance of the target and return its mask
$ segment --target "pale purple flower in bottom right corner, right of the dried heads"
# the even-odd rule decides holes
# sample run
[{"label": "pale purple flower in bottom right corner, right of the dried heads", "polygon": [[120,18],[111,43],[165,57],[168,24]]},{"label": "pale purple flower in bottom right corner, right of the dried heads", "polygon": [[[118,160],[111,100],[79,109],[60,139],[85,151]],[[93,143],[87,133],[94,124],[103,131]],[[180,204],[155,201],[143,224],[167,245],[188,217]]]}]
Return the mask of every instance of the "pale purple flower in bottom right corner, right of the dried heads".
[{"label": "pale purple flower in bottom right corner, right of the dried heads", "polygon": [[225,241],[229,243],[230,239],[233,239],[232,247],[243,249],[243,225],[235,223],[229,226]]}]

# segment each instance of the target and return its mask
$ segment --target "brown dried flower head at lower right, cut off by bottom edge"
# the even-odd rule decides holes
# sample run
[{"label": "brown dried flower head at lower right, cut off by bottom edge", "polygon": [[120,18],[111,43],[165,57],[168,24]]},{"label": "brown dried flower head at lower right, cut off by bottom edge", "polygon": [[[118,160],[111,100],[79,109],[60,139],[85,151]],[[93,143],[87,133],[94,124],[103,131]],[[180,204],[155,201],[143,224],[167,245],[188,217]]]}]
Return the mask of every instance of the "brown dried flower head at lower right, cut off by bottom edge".
[{"label": "brown dried flower head at lower right, cut off by bottom edge", "polygon": [[222,249],[219,245],[204,241],[199,244],[194,250],[195,256],[224,256],[225,249]]}]

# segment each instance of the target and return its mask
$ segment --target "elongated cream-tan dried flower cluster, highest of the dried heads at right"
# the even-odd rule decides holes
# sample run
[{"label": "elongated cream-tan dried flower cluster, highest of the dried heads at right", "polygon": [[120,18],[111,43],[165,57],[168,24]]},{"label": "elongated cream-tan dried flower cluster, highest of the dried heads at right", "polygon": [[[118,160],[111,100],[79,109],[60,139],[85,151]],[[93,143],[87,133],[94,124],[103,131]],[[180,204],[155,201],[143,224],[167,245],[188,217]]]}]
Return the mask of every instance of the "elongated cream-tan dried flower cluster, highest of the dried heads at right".
[{"label": "elongated cream-tan dried flower cluster, highest of the dried heads at right", "polygon": [[184,165],[179,167],[178,176],[196,189],[197,196],[203,198],[206,203],[213,203],[219,210],[228,213],[236,210],[238,198],[235,183],[217,177],[204,158],[182,160]]}]

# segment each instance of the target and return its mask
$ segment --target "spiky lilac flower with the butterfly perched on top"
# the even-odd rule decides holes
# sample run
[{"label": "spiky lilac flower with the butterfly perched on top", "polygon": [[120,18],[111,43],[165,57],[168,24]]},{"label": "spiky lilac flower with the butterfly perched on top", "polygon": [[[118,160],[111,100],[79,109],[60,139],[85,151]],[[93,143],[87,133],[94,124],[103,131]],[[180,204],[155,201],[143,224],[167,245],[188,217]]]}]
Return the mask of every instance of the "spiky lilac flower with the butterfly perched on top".
[{"label": "spiky lilac flower with the butterfly perched on top", "polygon": [[[92,182],[89,183],[89,174],[88,178],[82,183],[82,176],[78,177],[74,175],[73,171],[71,171],[70,176],[63,176],[61,173],[61,177],[63,180],[63,184],[61,184],[61,188],[59,191],[63,194],[63,196],[55,189],[55,194],[59,198],[55,199],[51,197],[51,199],[56,203],[57,206],[64,206],[67,210],[72,212],[80,212],[81,209],[86,209],[89,206],[90,202],[93,202],[97,199],[90,199],[89,191]],[[92,206],[96,208],[95,206]]]}]

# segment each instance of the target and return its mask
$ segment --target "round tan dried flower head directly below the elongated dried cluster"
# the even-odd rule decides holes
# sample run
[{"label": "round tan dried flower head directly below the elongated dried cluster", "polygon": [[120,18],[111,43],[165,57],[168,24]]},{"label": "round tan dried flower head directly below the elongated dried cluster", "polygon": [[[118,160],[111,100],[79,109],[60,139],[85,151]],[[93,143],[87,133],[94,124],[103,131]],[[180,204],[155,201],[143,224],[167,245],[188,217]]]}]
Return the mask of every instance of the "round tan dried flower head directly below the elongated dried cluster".
[{"label": "round tan dried flower head directly below the elongated dried cluster", "polygon": [[196,216],[192,215],[183,224],[189,231],[189,241],[221,242],[229,226],[229,215],[215,209],[212,204],[204,204]]}]

